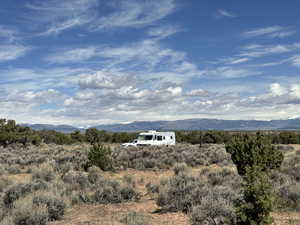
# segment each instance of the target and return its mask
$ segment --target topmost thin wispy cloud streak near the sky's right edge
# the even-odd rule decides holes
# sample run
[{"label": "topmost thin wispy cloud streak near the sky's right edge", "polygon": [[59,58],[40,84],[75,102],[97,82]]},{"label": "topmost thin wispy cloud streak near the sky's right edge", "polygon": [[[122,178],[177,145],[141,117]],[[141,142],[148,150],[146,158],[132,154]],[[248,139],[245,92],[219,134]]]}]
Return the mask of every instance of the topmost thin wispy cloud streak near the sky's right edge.
[{"label": "topmost thin wispy cloud streak near the sky's right edge", "polygon": [[242,36],[245,38],[251,37],[271,37],[271,38],[284,38],[295,34],[296,31],[290,30],[289,28],[285,28],[282,26],[270,26],[270,27],[262,27],[256,28],[253,30],[246,31],[242,33]]}]

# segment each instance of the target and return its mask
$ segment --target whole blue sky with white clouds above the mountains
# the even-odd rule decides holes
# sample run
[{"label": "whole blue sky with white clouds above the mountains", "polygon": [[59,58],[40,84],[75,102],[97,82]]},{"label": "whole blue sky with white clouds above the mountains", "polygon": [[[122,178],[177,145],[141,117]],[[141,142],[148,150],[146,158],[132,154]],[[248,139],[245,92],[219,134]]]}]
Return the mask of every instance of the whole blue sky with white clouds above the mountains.
[{"label": "whole blue sky with white clouds above the mountains", "polygon": [[300,3],[2,0],[0,117],[300,117]]}]

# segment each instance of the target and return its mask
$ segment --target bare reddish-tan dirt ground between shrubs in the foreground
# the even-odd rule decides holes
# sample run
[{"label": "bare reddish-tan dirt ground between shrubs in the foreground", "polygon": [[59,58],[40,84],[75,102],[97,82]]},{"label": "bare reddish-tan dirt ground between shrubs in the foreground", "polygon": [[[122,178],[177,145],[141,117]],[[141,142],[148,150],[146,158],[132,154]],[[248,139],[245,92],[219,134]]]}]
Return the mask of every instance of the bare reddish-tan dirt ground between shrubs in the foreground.
[{"label": "bare reddish-tan dirt ground between shrubs in the foreground", "polygon": [[[198,174],[202,168],[191,169],[191,174]],[[216,168],[217,169],[217,168]],[[68,210],[64,218],[51,223],[52,225],[120,225],[122,218],[129,212],[138,212],[145,216],[153,225],[189,225],[188,216],[183,213],[159,213],[155,201],[147,194],[145,184],[158,183],[160,179],[173,175],[171,170],[165,171],[137,171],[126,170],[118,173],[106,172],[105,176],[122,179],[131,175],[136,182],[137,190],[142,194],[138,202],[108,205],[78,205]],[[276,225],[300,225],[300,213],[273,213]]]}]

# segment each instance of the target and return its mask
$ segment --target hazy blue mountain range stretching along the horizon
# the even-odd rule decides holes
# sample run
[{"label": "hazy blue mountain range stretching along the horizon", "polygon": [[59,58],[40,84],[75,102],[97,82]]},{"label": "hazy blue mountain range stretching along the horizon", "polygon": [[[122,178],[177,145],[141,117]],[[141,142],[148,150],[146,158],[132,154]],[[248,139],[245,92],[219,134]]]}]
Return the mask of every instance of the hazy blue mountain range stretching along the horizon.
[{"label": "hazy blue mountain range stretching along the horizon", "polygon": [[[34,130],[56,130],[71,133],[84,131],[69,125],[23,124]],[[128,124],[109,124],[94,126],[98,130],[112,132],[135,132],[144,130],[300,130],[300,118],[288,120],[219,120],[187,119],[175,121],[136,121]]]}]

